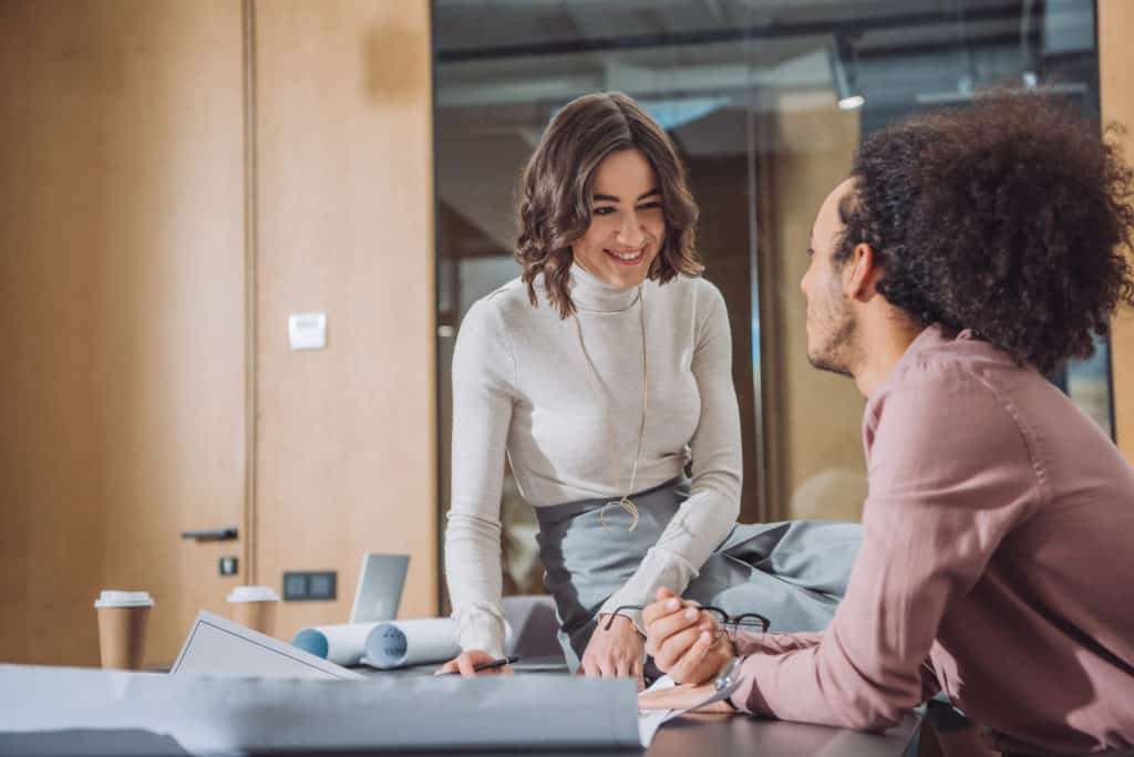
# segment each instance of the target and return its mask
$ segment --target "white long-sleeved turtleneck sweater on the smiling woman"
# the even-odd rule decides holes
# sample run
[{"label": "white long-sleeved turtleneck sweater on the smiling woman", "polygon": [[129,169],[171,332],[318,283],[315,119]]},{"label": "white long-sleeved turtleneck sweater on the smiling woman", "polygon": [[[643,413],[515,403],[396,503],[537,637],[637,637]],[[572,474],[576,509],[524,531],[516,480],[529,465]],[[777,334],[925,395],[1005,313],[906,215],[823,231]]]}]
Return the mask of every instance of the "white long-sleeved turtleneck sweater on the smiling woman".
[{"label": "white long-sleeved turtleneck sweater on the smiling woman", "polygon": [[[536,508],[632,493],[642,422],[637,288],[573,266],[572,299],[602,386],[536,280],[532,307],[519,280],[477,300],[452,358],[452,497],[446,576],[463,649],[501,656],[500,491],[505,453]],[[704,279],[646,281],[649,409],[634,491],[663,484],[692,460],[691,496],[634,576],[603,605],[651,602],[697,576],[736,522],[741,426],[731,337],[720,291]],[[610,459],[613,433],[616,459]],[[613,477],[617,475],[617,480]]]}]

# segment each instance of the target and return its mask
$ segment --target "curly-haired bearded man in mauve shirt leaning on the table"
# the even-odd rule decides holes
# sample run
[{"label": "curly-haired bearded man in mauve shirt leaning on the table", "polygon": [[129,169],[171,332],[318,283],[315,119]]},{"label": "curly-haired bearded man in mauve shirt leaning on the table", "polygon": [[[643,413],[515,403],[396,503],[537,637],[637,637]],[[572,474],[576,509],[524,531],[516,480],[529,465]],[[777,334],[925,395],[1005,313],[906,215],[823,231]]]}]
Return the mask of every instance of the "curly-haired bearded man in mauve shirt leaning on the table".
[{"label": "curly-haired bearded man in mauve shirt leaning on the table", "polygon": [[730,638],[662,590],[662,670],[784,720],[881,729],[940,691],[1009,752],[1134,747],[1134,470],[1043,377],[1132,299],[1132,194],[1097,126],[1038,96],[863,144],[802,281],[812,364],[868,399],[846,598],[821,635]]}]

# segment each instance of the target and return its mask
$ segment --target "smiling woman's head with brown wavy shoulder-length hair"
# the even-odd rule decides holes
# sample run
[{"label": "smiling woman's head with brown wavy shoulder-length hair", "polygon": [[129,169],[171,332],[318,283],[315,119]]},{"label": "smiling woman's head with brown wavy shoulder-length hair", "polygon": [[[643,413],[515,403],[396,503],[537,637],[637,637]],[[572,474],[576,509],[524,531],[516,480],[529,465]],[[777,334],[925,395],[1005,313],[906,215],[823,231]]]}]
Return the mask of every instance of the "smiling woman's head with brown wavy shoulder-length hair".
[{"label": "smiling woman's head with brown wavy shoulder-length hair", "polygon": [[703,270],[685,168],[661,127],[624,94],[585,95],[564,108],[527,164],[523,192],[516,260],[533,305],[542,274],[556,309],[575,312],[573,261],[619,287]]}]

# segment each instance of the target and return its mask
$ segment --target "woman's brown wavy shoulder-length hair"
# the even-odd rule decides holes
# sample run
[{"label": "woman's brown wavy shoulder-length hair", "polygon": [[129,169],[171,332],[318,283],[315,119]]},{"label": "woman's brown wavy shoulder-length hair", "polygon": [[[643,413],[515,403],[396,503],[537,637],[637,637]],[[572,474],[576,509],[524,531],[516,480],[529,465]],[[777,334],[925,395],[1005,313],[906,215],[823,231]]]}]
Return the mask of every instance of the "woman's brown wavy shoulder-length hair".
[{"label": "woman's brown wavy shoulder-length hair", "polygon": [[666,214],[666,237],[649,278],[666,283],[678,273],[697,275],[697,205],[685,165],[666,131],[633,99],[620,92],[584,95],[551,120],[527,162],[521,184],[516,262],[527,296],[536,305],[535,279],[560,317],[575,313],[570,298],[572,245],[591,224],[594,171],[607,155],[640,150],[653,167]]}]

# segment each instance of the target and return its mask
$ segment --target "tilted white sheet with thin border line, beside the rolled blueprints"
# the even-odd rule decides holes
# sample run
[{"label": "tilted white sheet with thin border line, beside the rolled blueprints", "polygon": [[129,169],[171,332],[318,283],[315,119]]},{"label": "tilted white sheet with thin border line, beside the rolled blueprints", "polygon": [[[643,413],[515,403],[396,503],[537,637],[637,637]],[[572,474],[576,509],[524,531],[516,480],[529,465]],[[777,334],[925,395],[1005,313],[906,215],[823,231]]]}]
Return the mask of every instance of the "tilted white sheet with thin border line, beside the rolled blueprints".
[{"label": "tilted white sheet with thin border line, beside the rolled blueprints", "polygon": [[170,674],[362,679],[354,671],[202,610]]}]

